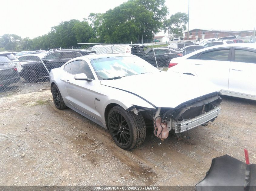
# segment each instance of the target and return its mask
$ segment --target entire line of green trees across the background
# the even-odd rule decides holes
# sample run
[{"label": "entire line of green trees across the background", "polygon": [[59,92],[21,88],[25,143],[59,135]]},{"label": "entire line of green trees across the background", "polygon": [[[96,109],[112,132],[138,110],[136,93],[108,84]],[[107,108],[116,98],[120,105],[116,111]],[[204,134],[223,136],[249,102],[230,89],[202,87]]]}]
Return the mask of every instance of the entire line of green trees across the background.
[{"label": "entire line of green trees across the background", "polygon": [[143,39],[151,39],[152,33],[162,29],[173,35],[186,30],[187,14],[178,12],[166,19],[167,14],[165,0],[128,0],[105,13],[90,13],[83,21],[62,21],[47,34],[34,39],[4,34],[0,37],[0,50],[71,48],[78,46],[78,42],[130,43],[142,35]]}]

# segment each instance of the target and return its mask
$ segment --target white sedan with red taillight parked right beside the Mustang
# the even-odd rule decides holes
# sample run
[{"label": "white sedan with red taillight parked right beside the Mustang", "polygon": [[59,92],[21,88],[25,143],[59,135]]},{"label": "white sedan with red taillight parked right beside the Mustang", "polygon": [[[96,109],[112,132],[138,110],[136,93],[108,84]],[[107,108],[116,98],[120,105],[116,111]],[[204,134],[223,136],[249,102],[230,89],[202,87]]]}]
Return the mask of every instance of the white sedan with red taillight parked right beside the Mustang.
[{"label": "white sedan with red taillight parked right beside the Mustang", "polygon": [[256,45],[213,46],[174,58],[168,72],[201,77],[216,84],[224,95],[256,100]]}]

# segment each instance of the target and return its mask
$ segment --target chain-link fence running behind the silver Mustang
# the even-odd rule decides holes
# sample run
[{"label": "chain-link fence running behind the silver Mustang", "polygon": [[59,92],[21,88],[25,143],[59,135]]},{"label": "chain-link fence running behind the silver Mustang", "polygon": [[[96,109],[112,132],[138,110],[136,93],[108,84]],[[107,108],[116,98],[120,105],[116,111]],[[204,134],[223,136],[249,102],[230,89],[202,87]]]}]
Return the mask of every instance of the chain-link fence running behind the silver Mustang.
[{"label": "chain-link fence running behind the silver Mustang", "polygon": [[[209,43],[207,45],[207,43]],[[214,44],[215,43],[215,44]],[[53,68],[61,67],[70,59],[88,54],[133,54],[144,59],[162,71],[172,66],[171,59],[205,48],[223,44],[224,40],[209,41],[204,44],[193,41],[155,45],[152,44],[91,44],[78,43],[79,47],[59,49],[55,51],[40,51],[23,55],[0,53],[0,96],[15,92],[32,92],[42,88],[50,88],[49,74]],[[29,54],[28,54],[29,53]]]}]

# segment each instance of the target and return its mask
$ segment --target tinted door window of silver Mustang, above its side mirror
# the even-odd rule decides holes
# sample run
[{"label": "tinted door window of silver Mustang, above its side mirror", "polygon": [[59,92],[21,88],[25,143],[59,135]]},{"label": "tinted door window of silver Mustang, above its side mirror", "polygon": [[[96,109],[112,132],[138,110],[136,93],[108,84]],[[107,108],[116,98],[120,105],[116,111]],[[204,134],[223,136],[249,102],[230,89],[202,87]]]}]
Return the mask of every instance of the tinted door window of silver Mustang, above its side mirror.
[{"label": "tinted door window of silver Mustang, above its side mirror", "polygon": [[83,61],[83,60],[76,60],[74,62],[71,62],[71,68],[70,68],[70,73],[71,74],[81,74],[81,73],[85,73],[87,75],[88,78],[91,79],[95,79],[91,69],[89,68],[88,64]]}]

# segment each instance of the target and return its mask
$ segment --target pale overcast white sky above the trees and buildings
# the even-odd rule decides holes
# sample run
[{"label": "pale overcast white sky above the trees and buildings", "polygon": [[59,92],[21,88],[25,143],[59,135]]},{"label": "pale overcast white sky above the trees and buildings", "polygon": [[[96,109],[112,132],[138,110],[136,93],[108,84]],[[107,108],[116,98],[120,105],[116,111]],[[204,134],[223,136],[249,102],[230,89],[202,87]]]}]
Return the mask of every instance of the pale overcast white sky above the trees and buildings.
[{"label": "pale overcast white sky above the trees and buildings", "polygon": [[[169,16],[188,14],[189,0],[166,0]],[[125,0],[1,0],[0,36],[5,33],[34,38],[42,36],[61,21],[82,21],[93,13],[104,13]],[[256,27],[256,1],[190,0],[189,30],[253,30]],[[164,32],[156,36],[164,35]]]}]

